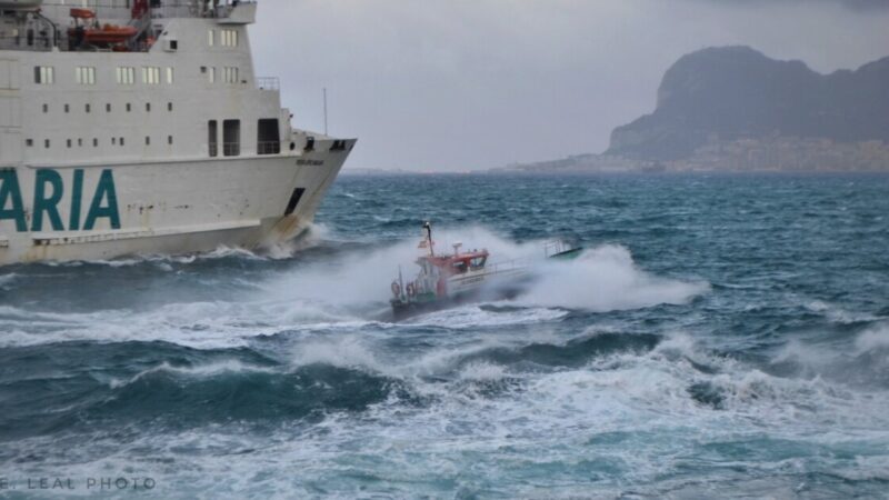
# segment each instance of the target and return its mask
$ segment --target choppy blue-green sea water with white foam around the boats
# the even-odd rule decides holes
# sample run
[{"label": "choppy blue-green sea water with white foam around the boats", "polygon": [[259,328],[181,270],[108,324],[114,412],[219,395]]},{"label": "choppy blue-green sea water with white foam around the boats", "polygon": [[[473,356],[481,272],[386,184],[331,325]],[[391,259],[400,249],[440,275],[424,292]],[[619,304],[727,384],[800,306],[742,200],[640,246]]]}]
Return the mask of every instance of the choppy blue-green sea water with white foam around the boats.
[{"label": "choppy blue-green sea water with white foam around the boats", "polygon": [[[587,250],[393,323],[427,219]],[[0,269],[0,497],[889,494],[888,177],[342,177],[317,222]]]}]

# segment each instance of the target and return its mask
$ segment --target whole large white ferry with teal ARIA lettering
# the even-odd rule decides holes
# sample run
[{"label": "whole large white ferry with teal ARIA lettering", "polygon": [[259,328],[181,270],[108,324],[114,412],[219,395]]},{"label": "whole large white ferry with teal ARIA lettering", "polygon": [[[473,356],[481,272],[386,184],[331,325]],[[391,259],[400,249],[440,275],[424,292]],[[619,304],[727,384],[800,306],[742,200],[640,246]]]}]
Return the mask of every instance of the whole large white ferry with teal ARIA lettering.
[{"label": "whole large white ferry with teal ARIA lettering", "polygon": [[354,139],[296,129],[238,0],[0,0],[0,264],[254,249]]}]

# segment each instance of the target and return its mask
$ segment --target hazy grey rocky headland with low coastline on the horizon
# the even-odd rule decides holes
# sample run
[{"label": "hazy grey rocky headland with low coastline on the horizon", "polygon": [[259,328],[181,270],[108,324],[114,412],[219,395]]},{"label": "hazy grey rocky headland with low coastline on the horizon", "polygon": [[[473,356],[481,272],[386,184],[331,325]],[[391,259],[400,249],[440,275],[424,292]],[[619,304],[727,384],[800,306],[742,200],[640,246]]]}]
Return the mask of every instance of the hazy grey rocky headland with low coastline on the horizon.
[{"label": "hazy grey rocky headland with low coastline on the horizon", "polygon": [[703,49],[663,76],[651,114],[605,153],[497,172],[889,172],[889,58],[819,74],[748,47]]}]

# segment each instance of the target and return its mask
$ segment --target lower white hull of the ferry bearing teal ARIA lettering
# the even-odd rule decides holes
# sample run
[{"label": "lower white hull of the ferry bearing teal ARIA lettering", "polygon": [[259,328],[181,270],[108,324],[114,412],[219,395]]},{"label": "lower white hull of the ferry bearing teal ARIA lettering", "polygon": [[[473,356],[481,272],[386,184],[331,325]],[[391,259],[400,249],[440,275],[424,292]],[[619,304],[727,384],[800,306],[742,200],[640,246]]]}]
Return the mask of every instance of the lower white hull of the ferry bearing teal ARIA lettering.
[{"label": "lower white hull of the ferry bearing teal ARIA lettering", "polygon": [[0,169],[0,266],[288,241],[311,224],[352,144],[299,156]]}]

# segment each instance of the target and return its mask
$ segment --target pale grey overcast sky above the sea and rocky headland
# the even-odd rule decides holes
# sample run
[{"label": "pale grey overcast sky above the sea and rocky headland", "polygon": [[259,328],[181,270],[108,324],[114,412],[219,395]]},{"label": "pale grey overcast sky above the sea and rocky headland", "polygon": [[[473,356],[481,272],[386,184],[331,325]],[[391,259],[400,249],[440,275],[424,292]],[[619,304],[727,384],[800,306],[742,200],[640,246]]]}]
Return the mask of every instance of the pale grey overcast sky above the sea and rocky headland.
[{"label": "pale grey overcast sky above the sea and rocky headland", "polygon": [[[881,7],[887,6],[887,7]],[[663,72],[748,44],[820,72],[889,56],[889,0],[262,0],[258,76],[347,168],[470,170],[601,152]]]}]

